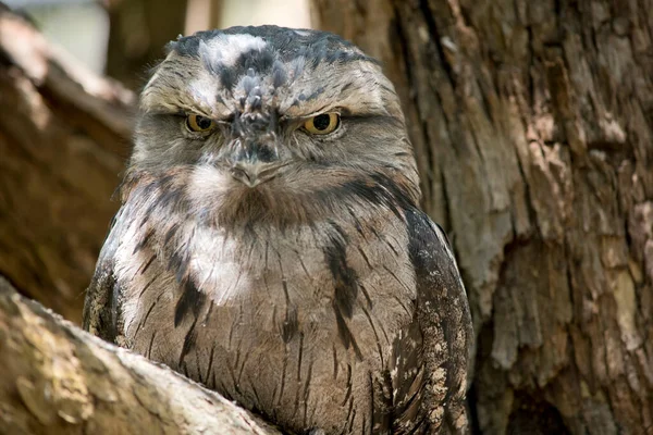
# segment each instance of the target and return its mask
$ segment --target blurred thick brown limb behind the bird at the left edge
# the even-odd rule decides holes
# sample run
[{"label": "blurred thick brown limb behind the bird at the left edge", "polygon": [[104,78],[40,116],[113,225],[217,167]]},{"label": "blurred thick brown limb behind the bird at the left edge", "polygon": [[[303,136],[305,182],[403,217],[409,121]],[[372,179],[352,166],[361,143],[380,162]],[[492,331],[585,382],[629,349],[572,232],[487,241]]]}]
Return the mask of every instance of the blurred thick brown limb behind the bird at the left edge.
[{"label": "blurred thick brown limb behind the bird at the left edge", "polygon": [[75,322],[118,209],[133,99],[0,5],[0,273]]}]

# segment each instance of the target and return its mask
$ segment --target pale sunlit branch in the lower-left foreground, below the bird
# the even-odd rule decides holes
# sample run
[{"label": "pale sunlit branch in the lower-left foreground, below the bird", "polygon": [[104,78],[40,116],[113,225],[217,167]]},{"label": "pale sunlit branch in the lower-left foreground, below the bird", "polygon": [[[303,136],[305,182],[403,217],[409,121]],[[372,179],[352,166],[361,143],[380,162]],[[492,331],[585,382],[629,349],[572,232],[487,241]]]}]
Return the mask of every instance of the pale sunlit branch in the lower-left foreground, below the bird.
[{"label": "pale sunlit branch in the lower-left foreground, below the bird", "polygon": [[259,434],[273,427],[20,297],[0,277],[0,433]]}]

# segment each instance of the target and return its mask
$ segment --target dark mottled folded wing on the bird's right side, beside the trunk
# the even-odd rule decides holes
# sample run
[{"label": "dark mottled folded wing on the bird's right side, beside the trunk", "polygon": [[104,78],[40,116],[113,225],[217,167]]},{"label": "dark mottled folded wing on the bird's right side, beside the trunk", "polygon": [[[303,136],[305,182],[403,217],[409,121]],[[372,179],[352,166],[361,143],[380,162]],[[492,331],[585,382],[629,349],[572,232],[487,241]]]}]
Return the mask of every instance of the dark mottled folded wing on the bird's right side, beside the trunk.
[{"label": "dark mottled folded wing on the bird's right side, beside the trunk", "polygon": [[415,320],[394,344],[393,433],[460,433],[473,334],[467,295],[446,235],[423,212],[406,211],[415,269]]}]

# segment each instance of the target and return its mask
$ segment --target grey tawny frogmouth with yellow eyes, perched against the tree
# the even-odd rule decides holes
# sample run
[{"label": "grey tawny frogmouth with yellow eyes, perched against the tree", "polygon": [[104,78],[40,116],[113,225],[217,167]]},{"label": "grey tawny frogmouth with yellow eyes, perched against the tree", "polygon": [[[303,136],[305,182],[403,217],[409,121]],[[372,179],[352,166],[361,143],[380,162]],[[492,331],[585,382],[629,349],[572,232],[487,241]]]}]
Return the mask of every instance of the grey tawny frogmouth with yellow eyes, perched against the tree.
[{"label": "grey tawny frogmouth with yellow eyes, perched against the tree", "polygon": [[468,299],[379,61],[321,30],[199,32],[137,112],[85,330],[289,433],[469,431]]}]

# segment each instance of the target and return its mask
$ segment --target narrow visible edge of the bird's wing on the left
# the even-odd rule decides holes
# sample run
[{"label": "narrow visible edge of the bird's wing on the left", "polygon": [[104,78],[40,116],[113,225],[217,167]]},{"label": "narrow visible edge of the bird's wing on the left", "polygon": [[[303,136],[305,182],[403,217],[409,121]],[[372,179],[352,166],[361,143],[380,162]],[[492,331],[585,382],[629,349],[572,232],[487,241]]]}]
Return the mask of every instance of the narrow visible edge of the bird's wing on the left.
[{"label": "narrow visible edge of the bird's wing on the left", "polygon": [[84,300],[84,330],[111,343],[114,341],[118,334],[115,313],[118,312],[119,288],[114,265],[115,250],[123,232],[120,220],[123,211],[124,209],[121,209],[113,217]]}]

